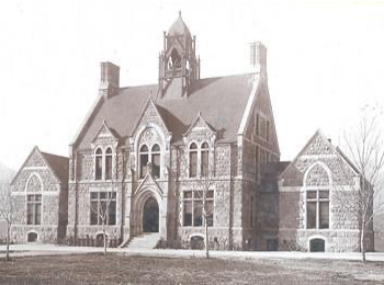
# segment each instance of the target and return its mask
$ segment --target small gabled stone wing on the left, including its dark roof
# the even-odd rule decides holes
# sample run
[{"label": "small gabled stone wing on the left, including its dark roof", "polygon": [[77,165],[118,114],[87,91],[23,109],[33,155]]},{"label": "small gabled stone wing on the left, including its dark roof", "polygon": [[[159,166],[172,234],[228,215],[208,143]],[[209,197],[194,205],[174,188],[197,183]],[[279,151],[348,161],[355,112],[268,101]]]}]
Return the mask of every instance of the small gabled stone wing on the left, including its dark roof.
[{"label": "small gabled stone wing on the left, including its dark roof", "polygon": [[16,223],[11,228],[18,243],[57,243],[66,237],[68,219],[68,158],[34,147],[11,182]]}]

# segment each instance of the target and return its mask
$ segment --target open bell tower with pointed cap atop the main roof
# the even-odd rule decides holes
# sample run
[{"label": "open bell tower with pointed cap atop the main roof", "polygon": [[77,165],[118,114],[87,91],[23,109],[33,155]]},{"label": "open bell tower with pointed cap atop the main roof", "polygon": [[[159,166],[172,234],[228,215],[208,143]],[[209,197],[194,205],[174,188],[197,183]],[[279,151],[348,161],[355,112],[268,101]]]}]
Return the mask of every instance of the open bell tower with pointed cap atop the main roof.
[{"label": "open bell tower with pointed cap atop the main roof", "polygon": [[177,100],[188,98],[191,82],[200,79],[200,59],[195,55],[196,37],[179,12],[168,33],[163,32],[163,50],[159,55],[159,87],[161,96]]}]

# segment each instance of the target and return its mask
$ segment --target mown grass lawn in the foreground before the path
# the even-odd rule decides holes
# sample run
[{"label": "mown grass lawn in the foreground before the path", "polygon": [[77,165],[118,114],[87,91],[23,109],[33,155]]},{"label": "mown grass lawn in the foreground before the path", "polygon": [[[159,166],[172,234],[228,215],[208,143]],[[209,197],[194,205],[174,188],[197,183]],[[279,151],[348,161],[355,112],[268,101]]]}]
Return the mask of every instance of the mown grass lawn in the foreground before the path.
[{"label": "mown grass lawn in the foreground before the path", "polygon": [[384,263],[82,254],[0,260],[0,284],[383,284]]}]

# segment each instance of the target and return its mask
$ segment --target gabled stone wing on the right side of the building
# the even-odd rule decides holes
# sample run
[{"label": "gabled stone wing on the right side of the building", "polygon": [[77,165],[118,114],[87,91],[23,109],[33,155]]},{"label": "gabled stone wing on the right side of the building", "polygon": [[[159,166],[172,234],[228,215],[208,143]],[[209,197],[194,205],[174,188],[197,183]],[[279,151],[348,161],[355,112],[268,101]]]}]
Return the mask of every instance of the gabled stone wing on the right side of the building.
[{"label": "gabled stone wing on the right side of the building", "polygon": [[[359,221],[342,204],[360,189],[360,180],[355,167],[318,130],[280,175],[280,250],[359,250]],[[373,250],[372,227],[366,236]]]}]

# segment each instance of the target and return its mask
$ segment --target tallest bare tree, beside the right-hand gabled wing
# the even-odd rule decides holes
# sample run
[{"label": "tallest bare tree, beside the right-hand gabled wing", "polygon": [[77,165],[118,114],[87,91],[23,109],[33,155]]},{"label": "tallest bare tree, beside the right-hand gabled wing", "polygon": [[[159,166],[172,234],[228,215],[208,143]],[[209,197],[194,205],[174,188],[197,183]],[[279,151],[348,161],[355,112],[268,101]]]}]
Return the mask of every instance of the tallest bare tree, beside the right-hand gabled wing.
[{"label": "tallest bare tree, beside the right-hand gabled wing", "polygon": [[[360,123],[343,140],[348,155],[360,175],[360,185],[348,195],[341,186],[337,187],[336,198],[343,210],[359,223],[359,250],[365,262],[366,231],[372,229],[373,218],[384,212],[384,137],[380,129],[381,114],[374,109],[365,107]],[[342,168],[341,168],[342,169]]]}]

